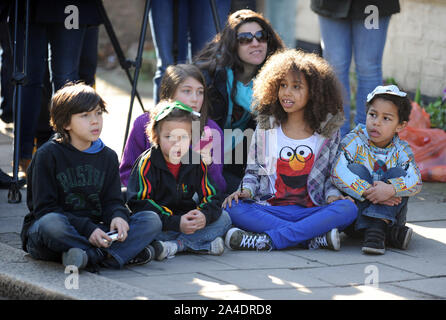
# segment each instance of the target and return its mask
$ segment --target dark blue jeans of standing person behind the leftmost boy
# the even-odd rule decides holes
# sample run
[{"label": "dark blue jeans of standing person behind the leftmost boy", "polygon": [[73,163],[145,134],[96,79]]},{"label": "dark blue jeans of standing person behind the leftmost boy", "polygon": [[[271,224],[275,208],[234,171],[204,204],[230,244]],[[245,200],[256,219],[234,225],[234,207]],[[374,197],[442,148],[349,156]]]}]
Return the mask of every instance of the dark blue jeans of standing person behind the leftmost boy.
[{"label": "dark blue jeans of standing person behind the leftmost boy", "polygon": [[[85,35],[85,26],[67,30],[63,24],[31,24],[29,26],[27,81],[22,89],[22,118],[20,121],[20,158],[31,159],[34,135],[40,114],[46,58],[50,61],[53,92],[69,81],[79,80],[78,67]],[[18,39],[24,35],[24,25],[18,24]],[[50,53],[48,53],[48,44]],[[23,43],[17,41],[18,57]],[[18,59],[21,70],[23,63]]]}]

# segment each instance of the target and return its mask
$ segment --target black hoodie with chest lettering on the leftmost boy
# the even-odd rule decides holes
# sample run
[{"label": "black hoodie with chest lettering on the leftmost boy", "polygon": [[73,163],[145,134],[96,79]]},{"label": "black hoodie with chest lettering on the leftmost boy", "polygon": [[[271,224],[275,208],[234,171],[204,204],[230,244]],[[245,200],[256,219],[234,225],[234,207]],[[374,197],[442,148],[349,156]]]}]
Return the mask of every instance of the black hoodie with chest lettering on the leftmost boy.
[{"label": "black hoodie with chest lettering on the leftmost boy", "polygon": [[47,213],[66,215],[87,239],[101,222],[110,225],[116,217],[128,221],[118,165],[118,156],[108,147],[90,154],[55,140],[41,146],[27,172],[29,214],[21,232],[23,250],[29,227]]}]

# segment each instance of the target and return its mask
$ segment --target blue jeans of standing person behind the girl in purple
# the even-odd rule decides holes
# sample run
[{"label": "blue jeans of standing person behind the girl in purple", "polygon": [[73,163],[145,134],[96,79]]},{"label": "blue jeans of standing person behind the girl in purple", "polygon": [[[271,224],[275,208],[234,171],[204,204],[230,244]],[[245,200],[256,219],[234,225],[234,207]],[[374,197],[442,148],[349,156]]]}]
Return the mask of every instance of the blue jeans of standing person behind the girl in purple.
[{"label": "blue jeans of standing person behind the girl in purple", "polygon": [[[157,57],[157,71],[153,78],[153,96],[155,103],[159,101],[159,86],[161,78],[169,65],[175,63],[174,49],[174,0],[153,0],[150,10],[150,29]],[[216,29],[209,0],[180,0],[178,3],[178,33],[177,33],[177,61],[186,63],[189,55],[189,41],[191,56],[200,51],[206,42],[216,35]],[[216,1],[220,26],[223,29],[231,1]]]}]

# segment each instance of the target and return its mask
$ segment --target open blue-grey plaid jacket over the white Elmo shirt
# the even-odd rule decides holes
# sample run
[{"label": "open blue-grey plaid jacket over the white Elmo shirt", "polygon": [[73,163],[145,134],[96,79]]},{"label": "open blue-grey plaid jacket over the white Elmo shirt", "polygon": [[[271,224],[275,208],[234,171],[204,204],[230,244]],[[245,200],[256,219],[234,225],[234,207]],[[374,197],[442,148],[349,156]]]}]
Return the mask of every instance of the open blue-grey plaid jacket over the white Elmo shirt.
[{"label": "open blue-grey plaid jacket over the white Elmo shirt", "polygon": [[[258,125],[251,140],[248,164],[242,180],[244,189],[249,189],[256,202],[269,205],[265,198],[274,190],[272,177],[276,170],[277,129],[279,123],[275,118],[259,116]],[[344,121],[343,114],[327,115],[318,133],[323,138],[322,146],[315,158],[313,168],[308,175],[307,190],[311,200],[317,206],[327,204],[329,196],[341,193],[330,180],[331,166],[336,158],[340,142],[339,128]]]}]

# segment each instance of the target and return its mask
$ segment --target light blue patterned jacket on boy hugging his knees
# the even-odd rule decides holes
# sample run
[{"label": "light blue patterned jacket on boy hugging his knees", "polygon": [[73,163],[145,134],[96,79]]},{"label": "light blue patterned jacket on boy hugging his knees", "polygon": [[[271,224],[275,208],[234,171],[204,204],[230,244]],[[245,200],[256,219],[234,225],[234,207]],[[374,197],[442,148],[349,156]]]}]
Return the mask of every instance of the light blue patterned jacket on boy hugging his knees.
[{"label": "light blue patterned jacket on boy hugging his knees", "polygon": [[370,188],[370,183],[361,179],[348,169],[351,163],[365,166],[375,180],[379,180],[374,167],[379,164],[376,155],[385,157],[385,167],[400,167],[406,171],[405,177],[389,179],[396,191],[397,197],[409,197],[421,191],[422,181],[420,170],[415,163],[412,149],[406,141],[395,135],[386,148],[378,148],[369,143],[365,125],[358,124],[347,134],[339,146],[339,154],[333,166],[332,181],[342,192],[349,196],[364,200],[362,193]]}]

